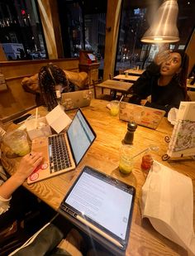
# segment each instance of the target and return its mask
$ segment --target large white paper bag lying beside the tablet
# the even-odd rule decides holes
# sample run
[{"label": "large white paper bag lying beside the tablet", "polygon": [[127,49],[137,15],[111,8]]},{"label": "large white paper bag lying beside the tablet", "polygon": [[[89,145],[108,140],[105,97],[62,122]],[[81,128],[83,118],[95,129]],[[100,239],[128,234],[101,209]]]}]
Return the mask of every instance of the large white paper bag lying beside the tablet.
[{"label": "large white paper bag lying beside the tablet", "polygon": [[188,176],[154,162],[142,187],[140,209],[160,234],[195,255],[193,183]]}]

